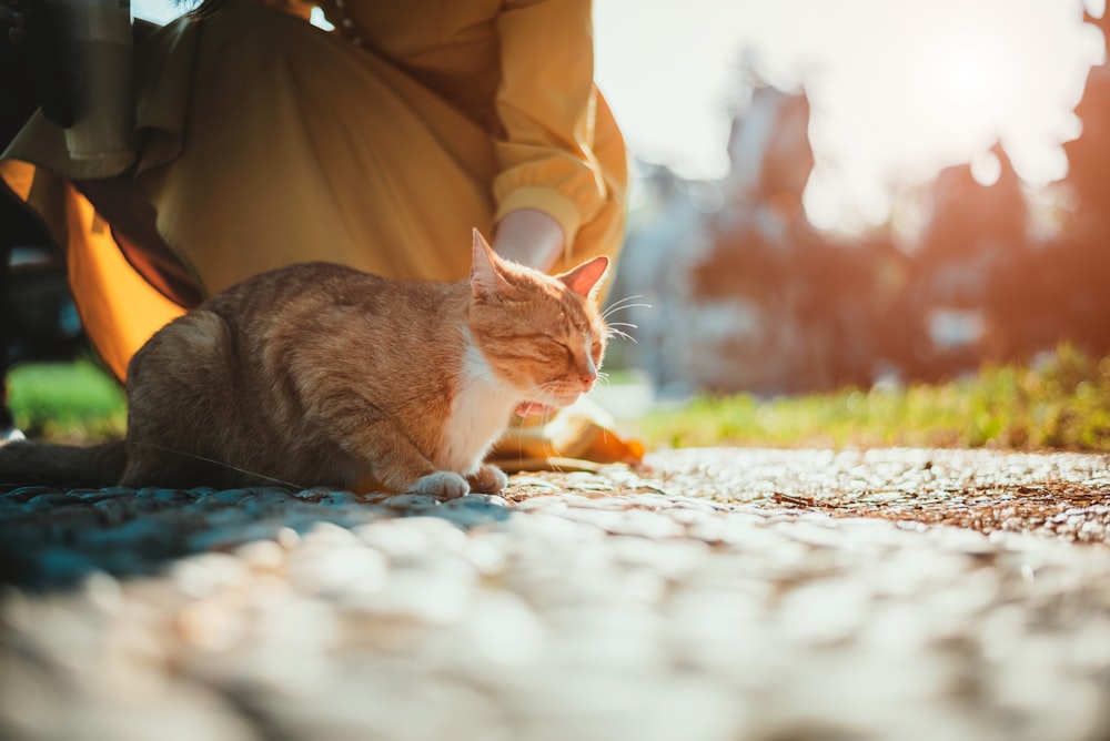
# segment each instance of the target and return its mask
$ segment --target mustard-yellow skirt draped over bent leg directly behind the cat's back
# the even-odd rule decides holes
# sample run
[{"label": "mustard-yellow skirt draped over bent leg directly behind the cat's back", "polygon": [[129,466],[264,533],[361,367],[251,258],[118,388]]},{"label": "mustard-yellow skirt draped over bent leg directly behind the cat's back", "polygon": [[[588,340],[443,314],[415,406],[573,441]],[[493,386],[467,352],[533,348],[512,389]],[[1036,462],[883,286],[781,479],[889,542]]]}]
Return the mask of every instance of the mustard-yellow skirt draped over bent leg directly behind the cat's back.
[{"label": "mustard-yellow skirt draped over bent leg directly behind the cat's back", "polygon": [[183,149],[139,182],[206,293],[324,260],[458,280],[487,234],[490,136],[403,71],[271,8],[203,21]]}]

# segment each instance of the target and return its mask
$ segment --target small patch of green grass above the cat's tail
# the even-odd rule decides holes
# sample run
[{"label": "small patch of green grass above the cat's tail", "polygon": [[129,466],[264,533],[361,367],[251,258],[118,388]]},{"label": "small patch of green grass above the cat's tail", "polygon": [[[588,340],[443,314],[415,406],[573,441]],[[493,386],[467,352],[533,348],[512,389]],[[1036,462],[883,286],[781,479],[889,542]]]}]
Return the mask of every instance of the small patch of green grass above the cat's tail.
[{"label": "small patch of green grass above the cat's tail", "polygon": [[29,437],[94,443],[127,430],[123,389],[89,359],[17,366],[8,376],[8,402]]}]

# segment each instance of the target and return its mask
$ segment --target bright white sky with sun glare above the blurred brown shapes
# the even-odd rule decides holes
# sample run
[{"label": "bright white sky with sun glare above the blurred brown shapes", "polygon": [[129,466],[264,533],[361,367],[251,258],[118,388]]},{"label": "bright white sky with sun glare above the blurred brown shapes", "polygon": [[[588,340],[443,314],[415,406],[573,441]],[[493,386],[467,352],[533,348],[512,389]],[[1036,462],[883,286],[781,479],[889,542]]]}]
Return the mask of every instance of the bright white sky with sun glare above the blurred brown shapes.
[{"label": "bright white sky with sun glare above the blurred brown shapes", "polygon": [[[1101,11],[1098,0],[1092,10]],[[1102,59],[1083,0],[595,0],[596,75],[642,158],[726,174],[729,108],[747,53],[805,82],[820,226],[885,220],[892,183],[922,181],[1001,138],[1032,185],[1061,177],[1071,110]],[[167,0],[134,0],[165,21]]]}]

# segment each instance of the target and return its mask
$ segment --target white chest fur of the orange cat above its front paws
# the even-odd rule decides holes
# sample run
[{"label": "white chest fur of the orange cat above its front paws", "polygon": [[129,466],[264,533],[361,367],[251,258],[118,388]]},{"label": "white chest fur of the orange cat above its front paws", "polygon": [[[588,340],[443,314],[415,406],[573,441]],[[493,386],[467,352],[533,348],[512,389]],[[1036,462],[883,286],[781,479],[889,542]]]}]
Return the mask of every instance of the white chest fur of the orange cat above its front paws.
[{"label": "white chest fur of the orange cat above its front paws", "polygon": [[476,471],[522,400],[522,394],[493,372],[467,337],[440,459],[433,463],[464,475]]}]

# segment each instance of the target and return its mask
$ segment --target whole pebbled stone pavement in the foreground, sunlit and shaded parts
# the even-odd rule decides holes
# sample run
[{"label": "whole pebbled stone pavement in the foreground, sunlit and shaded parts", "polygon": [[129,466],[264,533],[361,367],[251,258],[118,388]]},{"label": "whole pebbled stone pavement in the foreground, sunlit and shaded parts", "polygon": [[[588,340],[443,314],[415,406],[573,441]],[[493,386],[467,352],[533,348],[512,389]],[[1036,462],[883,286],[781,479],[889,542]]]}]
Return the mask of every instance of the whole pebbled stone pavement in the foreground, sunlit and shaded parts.
[{"label": "whole pebbled stone pavement in the foreground, sunlit and shaded parts", "polygon": [[1106,457],[648,463],[0,495],[0,739],[1110,738]]}]

